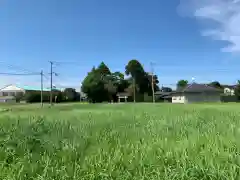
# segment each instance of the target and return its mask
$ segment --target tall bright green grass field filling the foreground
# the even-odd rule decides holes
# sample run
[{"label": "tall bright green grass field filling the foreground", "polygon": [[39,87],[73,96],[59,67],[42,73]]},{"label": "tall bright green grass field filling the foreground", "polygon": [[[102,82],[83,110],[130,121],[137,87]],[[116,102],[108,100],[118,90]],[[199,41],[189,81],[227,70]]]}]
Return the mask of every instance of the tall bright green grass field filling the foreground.
[{"label": "tall bright green grass field filling the foreground", "polygon": [[1,108],[1,180],[240,179],[238,104]]}]

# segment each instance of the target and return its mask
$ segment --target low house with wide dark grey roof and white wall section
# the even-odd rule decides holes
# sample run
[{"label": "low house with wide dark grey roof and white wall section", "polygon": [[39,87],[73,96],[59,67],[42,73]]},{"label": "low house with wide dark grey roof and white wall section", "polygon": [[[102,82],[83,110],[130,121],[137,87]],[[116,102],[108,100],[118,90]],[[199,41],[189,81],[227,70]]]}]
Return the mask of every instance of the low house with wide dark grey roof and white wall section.
[{"label": "low house with wide dark grey roof and white wall section", "polygon": [[220,102],[223,90],[192,83],[172,93],[172,103]]}]

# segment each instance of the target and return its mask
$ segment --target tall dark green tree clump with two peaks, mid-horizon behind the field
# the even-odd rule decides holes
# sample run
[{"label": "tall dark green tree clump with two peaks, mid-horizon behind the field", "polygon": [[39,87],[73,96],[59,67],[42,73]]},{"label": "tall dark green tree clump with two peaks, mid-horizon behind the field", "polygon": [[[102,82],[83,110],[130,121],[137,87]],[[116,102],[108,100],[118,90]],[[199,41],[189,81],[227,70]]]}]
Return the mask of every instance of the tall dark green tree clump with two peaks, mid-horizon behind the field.
[{"label": "tall dark green tree clump with two peaks, mid-horizon behind the field", "polygon": [[[119,71],[111,72],[109,67],[101,62],[97,68],[92,68],[83,80],[82,91],[92,102],[116,101],[116,95],[119,92],[128,92],[133,95],[135,91],[137,96],[152,95],[152,76],[145,72],[138,60],[128,62],[125,74],[128,78]],[[159,90],[156,75],[153,76],[153,83],[155,91]]]}]

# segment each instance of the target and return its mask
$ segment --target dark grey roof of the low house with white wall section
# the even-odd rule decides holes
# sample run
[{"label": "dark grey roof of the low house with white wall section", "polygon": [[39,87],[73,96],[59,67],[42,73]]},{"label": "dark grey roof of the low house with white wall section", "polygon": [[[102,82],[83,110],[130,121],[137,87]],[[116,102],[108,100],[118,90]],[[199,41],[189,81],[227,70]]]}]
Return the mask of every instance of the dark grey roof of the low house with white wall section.
[{"label": "dark grey roof of the low house with white wall section", "polygon": [[178,88],[176,92],[222,92],[222,89],[214,88],[206,84],[192,83],[183,88]]}]

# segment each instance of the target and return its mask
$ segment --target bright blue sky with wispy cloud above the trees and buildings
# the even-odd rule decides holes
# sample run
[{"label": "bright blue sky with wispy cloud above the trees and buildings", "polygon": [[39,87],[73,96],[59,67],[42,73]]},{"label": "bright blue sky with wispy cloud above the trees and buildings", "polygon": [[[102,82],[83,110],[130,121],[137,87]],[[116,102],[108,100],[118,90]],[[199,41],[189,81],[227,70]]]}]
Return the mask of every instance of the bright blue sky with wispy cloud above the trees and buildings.
[{"label": "bright blue sky with wispy cloud above the trees and buildings", "polygon": [[[49,86],[80,88],[104,61],[125,71],[150,63],[160,86],[179,79],[234,84],[240,79],[240,0],[0,0],[0,74],[40,73]],[[0,75],[40,86],[40,75]]]}]

